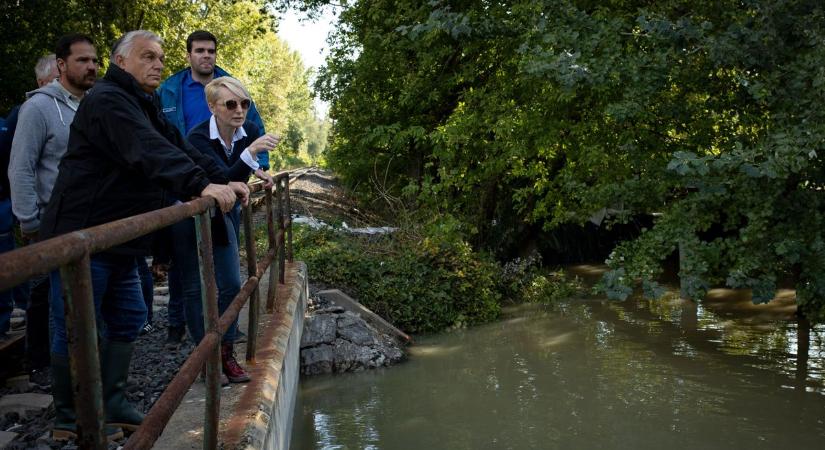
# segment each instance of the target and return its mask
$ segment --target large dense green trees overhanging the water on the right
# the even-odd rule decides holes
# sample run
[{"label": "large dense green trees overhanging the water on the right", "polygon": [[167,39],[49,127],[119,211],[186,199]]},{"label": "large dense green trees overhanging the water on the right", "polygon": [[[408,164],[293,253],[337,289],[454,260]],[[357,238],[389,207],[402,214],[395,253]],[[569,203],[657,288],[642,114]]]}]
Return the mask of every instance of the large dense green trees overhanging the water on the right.
[{"label": "large dense green trees overhanging the water on the right", "polygon": [[[326,1],[285,1],[312,10]],[[680,277],[825,317],[825,10],[818,0],[344,2],[317,87],[328,158],[370,195],[474,242],[653,217],[617,298],[681,247]],[[515,235],[518,238],[518,235]]]}]

